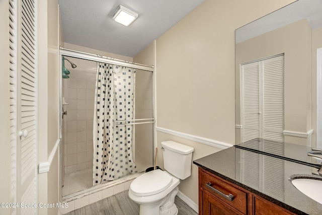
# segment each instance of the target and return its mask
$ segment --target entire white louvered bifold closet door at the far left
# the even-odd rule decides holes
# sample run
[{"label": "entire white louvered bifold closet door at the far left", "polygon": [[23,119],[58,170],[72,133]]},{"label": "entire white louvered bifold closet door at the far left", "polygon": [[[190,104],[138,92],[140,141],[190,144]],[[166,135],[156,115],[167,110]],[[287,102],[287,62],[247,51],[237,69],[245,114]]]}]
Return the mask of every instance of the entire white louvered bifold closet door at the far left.
[{"label": "entire white louvered bifold closet door at the far left", "polygon": [[[11,101],[13,135],[13,193],[15,202],[37,203],[36,142],[36,3],[10,0],[11,11]],[[15,113],[16,109],[16,113]],[[16,129],[14,129],[16,128]],[[16,136],[16,143],[15,137]],[[15,187],[16,186],[16,187]],[[22,208],[13,214],[37,214],[37,207]]]}]

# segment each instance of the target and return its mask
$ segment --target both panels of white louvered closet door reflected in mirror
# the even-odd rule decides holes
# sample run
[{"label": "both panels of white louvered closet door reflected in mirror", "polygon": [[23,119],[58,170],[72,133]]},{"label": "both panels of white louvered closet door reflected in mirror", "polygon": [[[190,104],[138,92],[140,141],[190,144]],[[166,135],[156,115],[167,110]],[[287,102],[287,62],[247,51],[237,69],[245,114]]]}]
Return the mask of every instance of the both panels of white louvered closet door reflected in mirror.
[{"label": "both panels of white louvered closet door reflected in mirror", "polygon": [[284,141],[284,56],[241,66],[242,140]]}]

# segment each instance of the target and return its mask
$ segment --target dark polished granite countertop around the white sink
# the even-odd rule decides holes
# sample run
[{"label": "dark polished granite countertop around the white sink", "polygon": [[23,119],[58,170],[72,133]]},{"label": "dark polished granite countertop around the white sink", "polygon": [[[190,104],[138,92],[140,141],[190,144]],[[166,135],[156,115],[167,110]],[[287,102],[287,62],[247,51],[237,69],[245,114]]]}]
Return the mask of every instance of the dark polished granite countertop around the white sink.
[{"label": "dark polished granite countertop around the white sink", "polygon": [[230,147],[193,163],[294,213],[322,214],[322,204],[298,191],[289,181],[294,174],[311,175],[316,172],[315,167],[237,147]]}]

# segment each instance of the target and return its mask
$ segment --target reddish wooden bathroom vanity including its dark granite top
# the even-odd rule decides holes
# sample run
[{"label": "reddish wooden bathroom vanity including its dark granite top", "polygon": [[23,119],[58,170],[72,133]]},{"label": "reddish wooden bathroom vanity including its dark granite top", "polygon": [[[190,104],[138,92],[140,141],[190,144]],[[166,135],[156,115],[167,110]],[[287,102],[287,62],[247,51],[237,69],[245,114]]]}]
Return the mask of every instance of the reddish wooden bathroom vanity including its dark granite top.
[{"label": "reddish wooden bathroom vanity including its dark granite top", "polygon": [[248,143],[255,150],[239,145],[193,162],[199,171],[199,214],[322,214],[322,204],[289,180],[315,173],[315,159],[303,151],[296,160],[294,150],[303,146],[284,143],[282,152],[267,153],[264,143],[257,139]]}]

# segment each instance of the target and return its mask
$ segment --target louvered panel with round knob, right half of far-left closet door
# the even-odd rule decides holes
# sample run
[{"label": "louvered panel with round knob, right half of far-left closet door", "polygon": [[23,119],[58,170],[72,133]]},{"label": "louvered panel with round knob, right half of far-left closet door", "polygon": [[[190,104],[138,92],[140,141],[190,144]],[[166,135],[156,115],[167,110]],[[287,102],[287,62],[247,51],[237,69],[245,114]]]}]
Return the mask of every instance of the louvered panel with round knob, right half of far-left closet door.
[{"label": "louvered panel with round knob, right half of far-left closet door", "polygon": [[[37,203],[36,2],[20,0],[17,10],[17,202]],[[17,208],[37,214],[37,208]]]}]

